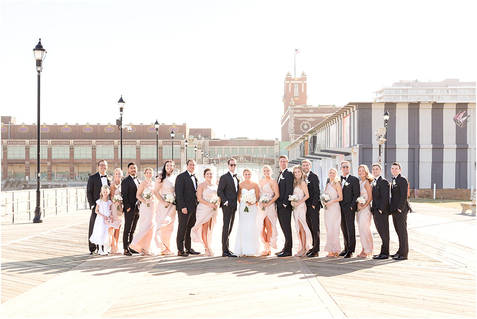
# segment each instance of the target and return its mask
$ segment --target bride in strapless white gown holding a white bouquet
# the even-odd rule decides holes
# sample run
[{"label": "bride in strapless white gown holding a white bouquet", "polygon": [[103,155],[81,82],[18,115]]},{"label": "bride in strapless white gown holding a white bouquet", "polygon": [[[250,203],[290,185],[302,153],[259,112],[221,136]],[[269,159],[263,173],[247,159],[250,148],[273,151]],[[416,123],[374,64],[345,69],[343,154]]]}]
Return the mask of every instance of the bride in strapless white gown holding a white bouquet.
[{"label": "bride in strapless white gown holding a white bouquet", "polygon": [[[245,169],[242,175],[244,181],[239,184],[239,227],[234,253],[241,256],[256,256],[260,254],[259,230],[261,228],[257,222],[259,185],[251,181],[252,172],[249,169]],[[251,197],[251,199],[246,197]],[[255,199],[253,199],[254,197]]]}]

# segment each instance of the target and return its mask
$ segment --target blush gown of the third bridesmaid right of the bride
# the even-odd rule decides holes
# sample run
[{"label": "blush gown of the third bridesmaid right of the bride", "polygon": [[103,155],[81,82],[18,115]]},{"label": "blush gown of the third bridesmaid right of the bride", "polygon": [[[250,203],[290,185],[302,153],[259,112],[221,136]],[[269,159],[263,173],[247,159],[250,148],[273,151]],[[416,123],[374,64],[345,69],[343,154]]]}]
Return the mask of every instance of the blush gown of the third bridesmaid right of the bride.
[{"label": "blush gown of the third bridesmaid right of the bride", "polygon": [[[338,185],[341,187],[341,185]],[[332,185],[326,185],[325,194],[330,196],[330,199],[337,199],[338,192]],[[324,205],[324,204],[323,204]],[[341,225],[341,207],[339,202],[332,203],[325,211],[325,228],[326,228],[326,244],[324,251],[330,253],[341,253],[340,244],[340,225]]]}]

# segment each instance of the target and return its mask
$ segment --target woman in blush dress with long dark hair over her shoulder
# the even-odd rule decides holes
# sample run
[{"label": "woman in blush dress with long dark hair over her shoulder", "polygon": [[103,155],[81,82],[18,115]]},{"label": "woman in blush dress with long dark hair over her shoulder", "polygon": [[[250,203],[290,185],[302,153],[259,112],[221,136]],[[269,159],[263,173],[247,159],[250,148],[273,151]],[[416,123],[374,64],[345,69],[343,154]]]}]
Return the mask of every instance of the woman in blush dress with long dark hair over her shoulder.
[{"label": "woman in blush dress with long dark hair over her shoulder", "polygon": [[156,211],[156,246],[162,255],[173,255],[171,251],[171,234],[176,221],[176,205],[164,200],[164,195],[173,195],[176,198],[174,188],[176,186],[176,175],[174,175],[175,165],[170,159],[164,163],[161,174],[156,178],[154,185],[154,195],[157,198]]}]

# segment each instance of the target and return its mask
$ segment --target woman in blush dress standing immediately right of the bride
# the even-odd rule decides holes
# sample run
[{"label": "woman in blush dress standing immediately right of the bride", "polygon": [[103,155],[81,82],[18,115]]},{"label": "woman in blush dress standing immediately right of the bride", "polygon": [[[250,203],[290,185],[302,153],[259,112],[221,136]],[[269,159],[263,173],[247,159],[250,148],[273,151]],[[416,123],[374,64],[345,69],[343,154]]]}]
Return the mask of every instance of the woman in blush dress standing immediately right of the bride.
[{"label": "woman in blush dress standing immediately right of the bride", "polygon": [[[261,219],[263,220],[263,229],[260,232],[261,241],[265,247],[262,252],[262,256],[270,255],[271,248],[277,249],[277,205],[275,201],[280,197],[278,182],[271,178],[273,170],[269,165],[265,165],[262,169],[262,174],[265,176],[264,179],[259,181],[259,191],[260,197],[267,196],[270,202],[258,204],[259,214],[261,214]],[[259,197],[259,198],[260,198]],[[265,210],[262,210],[265,208]]]}]

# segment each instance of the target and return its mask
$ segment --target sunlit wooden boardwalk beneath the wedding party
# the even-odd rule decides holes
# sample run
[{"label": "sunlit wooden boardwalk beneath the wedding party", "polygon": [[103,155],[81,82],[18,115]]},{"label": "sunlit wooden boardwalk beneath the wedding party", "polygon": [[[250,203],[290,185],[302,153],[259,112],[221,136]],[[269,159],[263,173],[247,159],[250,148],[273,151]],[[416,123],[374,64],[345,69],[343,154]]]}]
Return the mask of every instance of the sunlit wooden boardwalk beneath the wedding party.
[{"label": "sunlit wooden boardwalk beneath the wedding party", "polygon": [[[88,210],[47,216],[41,224],[2,225],[2,317],[474,318],[476,217],[413,207],[406,261],[326,258],[324,252],[281,259],[91,257]],[[213,242],[218,255],[220,219]],[[321,250],[322,220],[323,212]],[[381,241],[374,226],[372,231],[376,251]],[[391,251],[396,249],[392,232]]]}]

